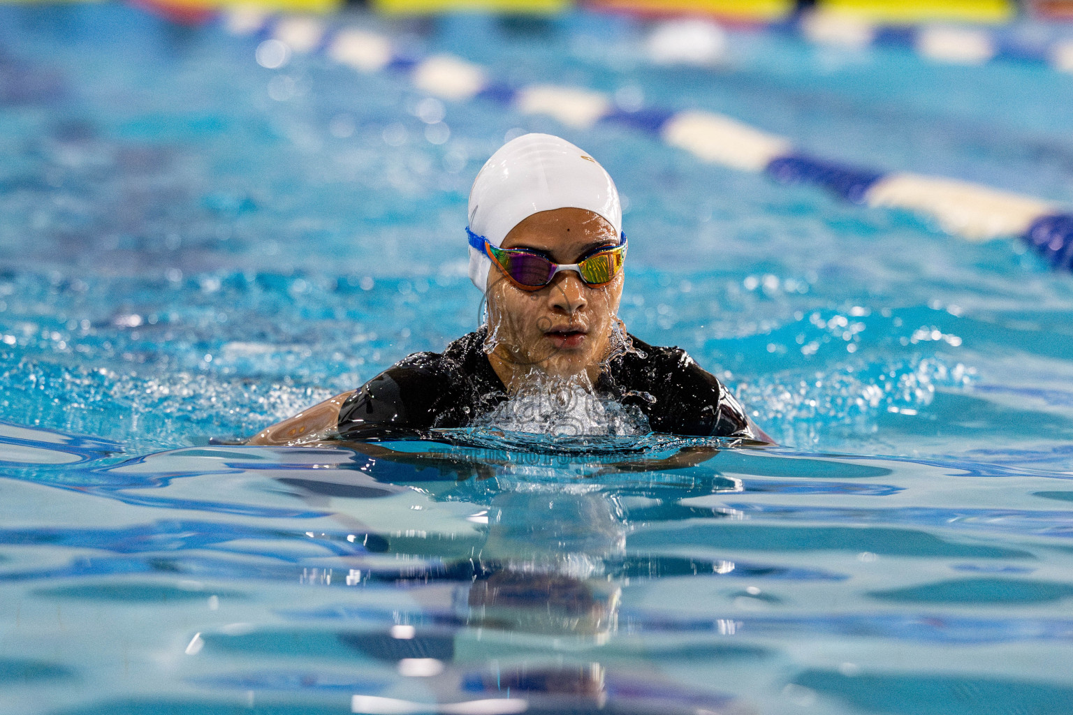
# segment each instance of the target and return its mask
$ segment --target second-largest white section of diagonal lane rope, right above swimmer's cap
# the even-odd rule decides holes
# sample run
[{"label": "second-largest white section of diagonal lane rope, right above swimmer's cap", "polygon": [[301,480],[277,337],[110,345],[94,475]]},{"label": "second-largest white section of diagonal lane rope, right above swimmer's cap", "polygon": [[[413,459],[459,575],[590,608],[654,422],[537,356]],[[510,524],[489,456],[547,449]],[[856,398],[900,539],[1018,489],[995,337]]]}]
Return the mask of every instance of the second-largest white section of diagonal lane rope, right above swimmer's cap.
[{"label": "second-largest white section of diagonal lane rope, right above swimmer's cap", "polygon": [[708,111],[681,111],[663,126],[663,139],[700,159],[746,172],[763,172],[790,152],[787,139]]}]

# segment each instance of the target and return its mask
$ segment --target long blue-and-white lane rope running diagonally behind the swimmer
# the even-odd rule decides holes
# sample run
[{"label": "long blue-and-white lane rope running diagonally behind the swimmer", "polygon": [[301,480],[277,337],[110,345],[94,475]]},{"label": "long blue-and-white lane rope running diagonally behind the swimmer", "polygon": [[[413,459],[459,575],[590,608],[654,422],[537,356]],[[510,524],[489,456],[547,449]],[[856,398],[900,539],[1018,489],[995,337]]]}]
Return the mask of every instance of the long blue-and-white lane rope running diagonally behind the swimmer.
[{"label": "long blue-and-white lane rope running diagonally behind the swimmer", "polygon": [[[298,54],[320,53],[364,73],[394,71],[421,91],[447,101],[483,99],[520,114],[550,116],[573,129],[626,125],[701,161],[765,174],[784,184],[807,184],[868,207],[923,214],[946,233],[969,240],[1020,238],[1056,268],[1073,270],[1073,213],[1012,192],[956,179],[890,173],[809,157],[780,136],[710,111],[646,108],[626,111],[608,94],[550,84],[512,88],[454,55],[413,57],[396,51],[382,34],[328,27],[310,16],[274,16],[236,8],[224,15],[236,35],[283,43]],[[259,48],[260,50],[260,48]]]}]

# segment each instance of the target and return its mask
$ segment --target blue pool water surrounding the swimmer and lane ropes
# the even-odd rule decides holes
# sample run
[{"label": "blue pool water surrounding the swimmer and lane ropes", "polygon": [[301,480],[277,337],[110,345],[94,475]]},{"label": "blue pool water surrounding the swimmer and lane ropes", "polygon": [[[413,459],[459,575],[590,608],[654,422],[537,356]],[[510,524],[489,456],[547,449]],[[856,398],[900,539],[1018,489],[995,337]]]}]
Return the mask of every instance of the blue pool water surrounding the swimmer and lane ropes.
[{"label": "blue pool water surrounding the swimmer and lane ropes", "polygon": [[[1039,65],[741,33],[660,69],[622,18],[344,19],[1073,200],[1073,79]],[[1073,710],[1070,275],[628,129],[474,101],[432,144],[405,75],[256,44],[0,8],[0,712]],[[466,195],[519,130],[627,197],[631,331],[784,446],[219,444],[476,326]]]}]

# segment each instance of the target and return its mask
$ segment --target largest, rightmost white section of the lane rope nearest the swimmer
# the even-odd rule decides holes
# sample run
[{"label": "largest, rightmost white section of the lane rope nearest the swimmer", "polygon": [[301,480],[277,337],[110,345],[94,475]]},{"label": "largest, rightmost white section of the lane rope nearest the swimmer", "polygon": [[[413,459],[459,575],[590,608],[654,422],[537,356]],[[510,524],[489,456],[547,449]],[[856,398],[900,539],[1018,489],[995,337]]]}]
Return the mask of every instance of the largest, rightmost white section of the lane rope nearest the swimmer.
[{"label": "largest, rightmost white section of the lane rope nearest the swimmer", "polygon": [[880,179],[865,199],[869,206],[926,213],[946,233],[981,241],[1019,236],[1033,221],[1057,210],[1031,196],[915,174],[892,174]]}]

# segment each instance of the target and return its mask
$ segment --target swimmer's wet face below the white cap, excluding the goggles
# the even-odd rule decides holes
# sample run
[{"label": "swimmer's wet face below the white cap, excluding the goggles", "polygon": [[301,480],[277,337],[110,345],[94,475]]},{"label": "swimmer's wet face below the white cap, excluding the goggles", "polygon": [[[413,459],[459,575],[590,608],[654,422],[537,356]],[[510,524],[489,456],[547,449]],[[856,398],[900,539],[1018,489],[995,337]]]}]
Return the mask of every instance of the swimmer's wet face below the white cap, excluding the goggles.
[{"label": "swimmer's wet face below the white cap, excluding the goggles", "polygon": [[[503,239],[504,249],[529,249],[557,264],[576,264],[617,245],[615,228],[592,211],[575,208],[534,213]],[[514,373],[536,368],[594,381],[609,349],[622,297],[623,271],[605,285],[590,286],[575,271],[560,271],[539,291],[523,291],[493,265],[488,272],[488,319],[493,353]]]}]

